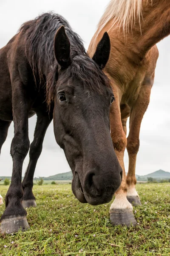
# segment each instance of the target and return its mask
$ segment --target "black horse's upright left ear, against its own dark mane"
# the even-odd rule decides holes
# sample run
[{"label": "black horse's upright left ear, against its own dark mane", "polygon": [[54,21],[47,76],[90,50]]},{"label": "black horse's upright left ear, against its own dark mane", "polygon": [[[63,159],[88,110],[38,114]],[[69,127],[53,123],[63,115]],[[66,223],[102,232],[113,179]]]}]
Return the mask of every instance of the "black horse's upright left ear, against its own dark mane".
[{"label": "black horse's upright left ear, against its own dark mane", "polygon": [[71,64],[70,41],[65,33],[64,26],[61,26],[54,38],[54,53],[58,64],[62,68],[67,68]]}]

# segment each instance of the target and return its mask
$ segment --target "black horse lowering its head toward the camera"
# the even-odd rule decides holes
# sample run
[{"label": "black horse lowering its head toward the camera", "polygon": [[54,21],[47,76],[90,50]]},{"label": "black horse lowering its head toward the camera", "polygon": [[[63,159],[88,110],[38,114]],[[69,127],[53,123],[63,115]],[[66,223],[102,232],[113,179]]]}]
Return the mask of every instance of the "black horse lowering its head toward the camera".
[{"label": "black horse lowering its head toward the camera", "polygon": [[[1,231],[26,230],[24,207],[35,206],[34,170],[45,132],[54,118],[54,134],[73,172],[72,190],[82,203],[111,201],[122,180],[110,135],[113,93],[102,72],[110,53],[105,32],[89,58],[79,36],[56,14],[43,14],[21,26],[0,49],[0,148],[14,121],[13,171]],[[28,118],[37,114],[29,143]],[[22,182],[23,160],[30,161]]]}]

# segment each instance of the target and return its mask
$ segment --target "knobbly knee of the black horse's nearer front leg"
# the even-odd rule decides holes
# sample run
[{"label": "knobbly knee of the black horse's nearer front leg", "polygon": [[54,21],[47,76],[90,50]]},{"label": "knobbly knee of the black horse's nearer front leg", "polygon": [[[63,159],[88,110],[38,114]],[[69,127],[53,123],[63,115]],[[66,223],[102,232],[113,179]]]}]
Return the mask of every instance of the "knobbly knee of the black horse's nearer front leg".
[{"label": "knobbly knee of the black horse's nearer front leg", "polygon": [[21,158],[25,158],[29,150],[29,138],[22,138],[18,134],[14,135],[11,143],[11,157],[17,154]]}]

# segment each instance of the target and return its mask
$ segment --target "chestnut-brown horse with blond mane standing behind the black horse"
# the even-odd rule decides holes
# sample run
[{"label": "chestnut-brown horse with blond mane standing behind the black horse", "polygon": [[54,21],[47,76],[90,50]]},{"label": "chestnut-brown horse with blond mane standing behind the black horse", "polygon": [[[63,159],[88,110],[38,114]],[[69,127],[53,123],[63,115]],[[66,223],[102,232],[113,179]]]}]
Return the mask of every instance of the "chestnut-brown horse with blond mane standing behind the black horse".
[{"label": "chestnut-brown horse with blond mane standing behind the black horse", "polygon": [[[116,101],[111,106],[111,137],[123,179],[111,204],[113,225],[136,225],[134,205],[141,204],[136,192],[136,155],[139,131],[150,100],[156,61],[156,43],[170,34],[170,0],[111,0],[99,21],[88,48],[93,56],[103,33],[111,38],[111,55],[104,72],[111,81]],[[126,122],[130,116],[130,131],[126,138]],[[123,162],[127,147],[129,169],[127,177]]]}]

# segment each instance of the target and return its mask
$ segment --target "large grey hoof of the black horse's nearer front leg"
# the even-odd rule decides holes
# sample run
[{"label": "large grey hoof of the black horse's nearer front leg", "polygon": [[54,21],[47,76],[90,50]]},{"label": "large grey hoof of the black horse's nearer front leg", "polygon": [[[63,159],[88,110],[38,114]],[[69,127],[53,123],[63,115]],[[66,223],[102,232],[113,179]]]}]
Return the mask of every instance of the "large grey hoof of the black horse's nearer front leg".
[{"label": "large grey hoof of the black horse's nearer front leg", "polygon": [[11,234],[21,231],[28,230],[29,225],[26,216],[18,216],[11,218],[5,218],[1,221],[0,231],[1,233]]}]

